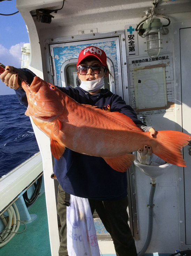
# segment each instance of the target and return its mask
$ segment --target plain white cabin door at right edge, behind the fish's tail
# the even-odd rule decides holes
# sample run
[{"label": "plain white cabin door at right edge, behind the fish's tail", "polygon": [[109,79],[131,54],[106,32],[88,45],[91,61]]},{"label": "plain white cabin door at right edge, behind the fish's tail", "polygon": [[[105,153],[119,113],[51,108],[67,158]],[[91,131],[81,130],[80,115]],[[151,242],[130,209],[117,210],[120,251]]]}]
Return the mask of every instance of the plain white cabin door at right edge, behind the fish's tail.
[{"label": "plain white cabin door at right edge, behind the fish's tail", "polygon": [[[190,24],[191,25],[191,24]],[[180,31],[182,127],[191,134],[191,26]],[[191,145],[183,149],[184,197],[185,197],[185,244],[191,245]],[[189,248],[186,247],[186,248]],[[191,248],[190,248],[191,249]]]}]

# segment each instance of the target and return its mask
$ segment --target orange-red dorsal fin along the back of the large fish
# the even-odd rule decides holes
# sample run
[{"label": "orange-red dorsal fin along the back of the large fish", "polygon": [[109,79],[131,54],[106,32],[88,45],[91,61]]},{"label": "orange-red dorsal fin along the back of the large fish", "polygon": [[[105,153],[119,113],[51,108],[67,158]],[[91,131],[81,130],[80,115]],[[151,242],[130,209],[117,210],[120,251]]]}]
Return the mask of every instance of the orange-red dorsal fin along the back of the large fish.
[{"label": "orange-red dorsal fin along the back of the large fish", "polygon": [[97,108],[97,106],[91,106],[91,105],[85,105],[85,104],[81,104],[81,105],[83,105],[86,108],[92,108],[95,111],[100,111],[104,115],[110,115],[111,117],[117,119],[119,122],[125,124],[129,129],[137,130],[137,131],[141,132],[141,129],[139,129],[136,126],[136,124],[133,122],[133,120],[130,117],[124,115],[123,113],[105,111],[101,108]]}]

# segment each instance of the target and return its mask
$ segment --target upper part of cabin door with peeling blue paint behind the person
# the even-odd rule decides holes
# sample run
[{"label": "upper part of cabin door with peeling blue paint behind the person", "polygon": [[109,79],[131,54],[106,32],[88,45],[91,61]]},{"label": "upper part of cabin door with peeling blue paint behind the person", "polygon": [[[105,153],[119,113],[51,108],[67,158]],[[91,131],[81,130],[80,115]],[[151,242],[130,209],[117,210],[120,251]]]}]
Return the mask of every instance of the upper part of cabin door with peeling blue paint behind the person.
[{"label": "upper part of cabin door with peeling blue paint behind the person", "polygon": [[[103,49],[107,55],[107,64],[112,74],[105,81],[104,88],[116,93],[129,103],[126,48],[124,31],[115,33],[97,33],[94,39],[88,38],[90,35],[76,36],[76,41],[69,41],[71,37],[54,39],[53,43],[49,41],[50,56],[47,56],[47,66],[51,66],[48,81],[59,87],[78,85],[76,63],[80,51],[88,46],[96,46]],[[49,60],[51,63],[49,63]],[[51,73],[51,74],[50,74]],[[125,89],[124,89],[125,88]]]}]

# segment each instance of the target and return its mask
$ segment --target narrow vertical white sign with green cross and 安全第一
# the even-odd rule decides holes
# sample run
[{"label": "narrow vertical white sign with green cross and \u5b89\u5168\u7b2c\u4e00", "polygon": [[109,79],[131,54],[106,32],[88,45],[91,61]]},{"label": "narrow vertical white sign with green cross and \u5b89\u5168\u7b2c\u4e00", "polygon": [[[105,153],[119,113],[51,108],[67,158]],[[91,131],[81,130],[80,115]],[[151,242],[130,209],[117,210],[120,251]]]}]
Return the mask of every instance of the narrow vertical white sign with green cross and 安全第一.
[{"label": "narrow vertical white sign with green cross and \u5b89\u5168\u7b2c\u4e00", "polygon": [[138,36],[137,36],[137,31],[135,31],[136,27],[137,27],[136,24],[125,26],[127,56],[139,55]]}]

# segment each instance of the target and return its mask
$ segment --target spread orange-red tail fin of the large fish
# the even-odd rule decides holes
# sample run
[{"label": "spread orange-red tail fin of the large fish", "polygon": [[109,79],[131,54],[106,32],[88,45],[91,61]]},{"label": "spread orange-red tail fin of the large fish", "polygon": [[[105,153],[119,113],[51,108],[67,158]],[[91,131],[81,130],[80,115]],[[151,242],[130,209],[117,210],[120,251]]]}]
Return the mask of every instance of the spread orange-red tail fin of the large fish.
[{"label": "spread orange-red tail fin of the large fish", "polygon": [[184,146],[188,145],[191,140],[190,135],[169,130],[158,131],[155,138],[159,142],[156,147],[152,147],[155,155],[168,163],[186,167],[181,150]]}]

